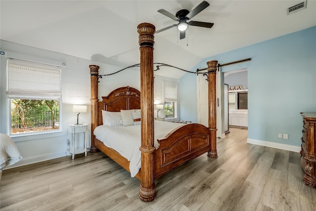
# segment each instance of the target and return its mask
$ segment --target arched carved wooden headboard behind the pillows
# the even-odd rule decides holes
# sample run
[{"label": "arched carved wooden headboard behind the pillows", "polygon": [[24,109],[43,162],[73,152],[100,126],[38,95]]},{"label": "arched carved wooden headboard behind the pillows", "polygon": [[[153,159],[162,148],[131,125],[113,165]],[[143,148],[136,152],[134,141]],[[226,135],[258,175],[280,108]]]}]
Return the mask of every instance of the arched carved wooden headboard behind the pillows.
[{"label": "arched carved wooden headboard behind the pillows", "polygon": [[140,109],[140,91],[136,88],[123,86],[113,90],[98,102],[98,125],[102,125],[102,111]]}]

